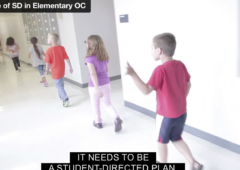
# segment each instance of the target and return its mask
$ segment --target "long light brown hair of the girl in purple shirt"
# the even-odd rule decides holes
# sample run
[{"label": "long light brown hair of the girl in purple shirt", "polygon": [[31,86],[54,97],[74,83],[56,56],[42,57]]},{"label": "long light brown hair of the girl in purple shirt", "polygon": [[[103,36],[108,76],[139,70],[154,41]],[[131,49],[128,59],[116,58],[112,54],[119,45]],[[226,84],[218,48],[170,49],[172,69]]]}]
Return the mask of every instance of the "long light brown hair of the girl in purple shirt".
[{"label": "long light brown hair of the girl in purple shirt", "polygon": [[108,53],[105,49],[102,38],[99,35],[91,35],[87,40],[87,56],[90,57],[96,55],[99,61],[109,60]]}]

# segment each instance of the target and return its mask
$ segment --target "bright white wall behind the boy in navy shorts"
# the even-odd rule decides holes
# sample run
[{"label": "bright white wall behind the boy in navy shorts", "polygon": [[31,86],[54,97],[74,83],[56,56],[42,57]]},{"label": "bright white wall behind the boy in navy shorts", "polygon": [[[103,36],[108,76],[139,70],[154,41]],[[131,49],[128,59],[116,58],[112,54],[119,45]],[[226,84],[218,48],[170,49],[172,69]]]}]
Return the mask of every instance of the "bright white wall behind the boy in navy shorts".
[{"label": "bright white wall behind the boy in navy shorts", "polygon": [[[174,58],[192,76],[187,124],[240,144],[239,10],[237,0],[114,0],[121,73],[128,60],[147,82],[161,64],[151,58],[156,34],[176,36]],[[129,14],[129,23],[119,15]],[[144,96],[123,78],[124,100],[156,111],[156,96]]]}]

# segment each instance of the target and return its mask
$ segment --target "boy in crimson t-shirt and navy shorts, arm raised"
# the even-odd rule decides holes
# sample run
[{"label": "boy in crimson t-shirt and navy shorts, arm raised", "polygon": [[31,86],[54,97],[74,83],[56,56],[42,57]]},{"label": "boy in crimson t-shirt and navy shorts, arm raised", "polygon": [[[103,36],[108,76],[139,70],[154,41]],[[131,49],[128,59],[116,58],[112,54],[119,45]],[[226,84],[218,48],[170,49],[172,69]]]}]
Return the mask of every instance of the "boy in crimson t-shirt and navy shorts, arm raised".
[{"label": "boy in crimson t-shirt and navy shorts, arm raised", "polygon": [[145,84],[128,64],[127,73],[138,89],[145,95],[157,92],[157,117],[163,116],[159,127],[159,156],[161,163],[167,162],[167,143],[171,140],[177,150],[188,160],[191,170],[202,170],[192,156],[181,134],[187,118],[186,98],[190,90],[190,75],[181,61],[174,60],[176,40],[174,35],[163,33],[153,38],[152,56],[161,60],[162,65],[155,68],[149,82]]}]

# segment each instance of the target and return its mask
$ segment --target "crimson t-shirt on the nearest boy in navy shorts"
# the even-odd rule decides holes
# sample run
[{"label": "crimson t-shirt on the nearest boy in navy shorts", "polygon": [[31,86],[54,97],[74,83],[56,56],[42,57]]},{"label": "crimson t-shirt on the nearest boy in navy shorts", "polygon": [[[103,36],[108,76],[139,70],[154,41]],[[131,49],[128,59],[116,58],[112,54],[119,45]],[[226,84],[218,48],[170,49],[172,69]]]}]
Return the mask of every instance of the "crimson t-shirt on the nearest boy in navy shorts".
[{"label": "crimson t-shirt on the nearest boy in navy shorts", "polygon": [[157,114],[177,118],[187,111],[190,75],[181,61],[167,61],[155,68],[148,85],[157,91]]}]

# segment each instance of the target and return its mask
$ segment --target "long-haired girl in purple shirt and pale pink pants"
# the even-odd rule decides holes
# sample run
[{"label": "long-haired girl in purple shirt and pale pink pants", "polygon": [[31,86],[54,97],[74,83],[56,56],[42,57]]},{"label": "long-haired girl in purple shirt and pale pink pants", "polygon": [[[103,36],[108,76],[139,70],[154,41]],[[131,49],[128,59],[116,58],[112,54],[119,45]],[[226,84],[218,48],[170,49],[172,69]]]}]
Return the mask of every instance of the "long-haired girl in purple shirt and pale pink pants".
[{"label": "long-haired girl in purple shirt and pale pink pants", "polygon": [[118,132],[122,129],[122,120],[112,106],[110,99],[111,86],[107,74],[108,60],[109,57],[102,38],[98,35],[88,37],[85,64],[89,70],[89,94],[95,114],[93,125],[99,129],[103,127],[100,111],[101,101],[106,111],[114,119],[115,132]]}]

